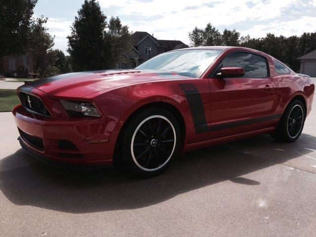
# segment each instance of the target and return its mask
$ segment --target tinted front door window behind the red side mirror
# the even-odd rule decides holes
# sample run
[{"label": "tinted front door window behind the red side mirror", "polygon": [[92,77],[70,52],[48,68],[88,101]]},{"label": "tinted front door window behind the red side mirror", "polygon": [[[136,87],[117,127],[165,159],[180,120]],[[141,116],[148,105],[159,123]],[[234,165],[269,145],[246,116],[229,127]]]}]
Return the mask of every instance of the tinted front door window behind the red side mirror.
[{"label": "tinted front door window behind the red side mirror", "polygon": [[222,67],[243,68],[243,78],[266,78],[269,75],[266,59],[251,53],[232,53],[222,61]]}]

